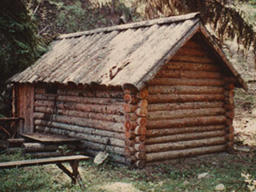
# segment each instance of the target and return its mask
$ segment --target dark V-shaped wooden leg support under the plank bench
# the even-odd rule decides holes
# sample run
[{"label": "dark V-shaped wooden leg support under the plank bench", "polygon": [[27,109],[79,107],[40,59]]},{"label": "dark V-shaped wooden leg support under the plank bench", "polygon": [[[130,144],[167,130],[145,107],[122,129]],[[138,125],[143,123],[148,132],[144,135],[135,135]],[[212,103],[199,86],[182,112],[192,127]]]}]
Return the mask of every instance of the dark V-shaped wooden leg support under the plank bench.
[{"label": "dark V-shaped wooden leg support under the plank bench", "polygon": [[79,186],[83,186],[82,185],[82,178],[79,175],[78,172],[78,161],[71,161],[70,162],[70,166],[72,168],[72,173],[70,172],[70,170],[67,170],[65,166],[62,165],[62,163],[57,163],[58,168],[60,168],[65,174],[67,174],[72,181],[72,184],[75,185],[76,182],[78,181]]}]

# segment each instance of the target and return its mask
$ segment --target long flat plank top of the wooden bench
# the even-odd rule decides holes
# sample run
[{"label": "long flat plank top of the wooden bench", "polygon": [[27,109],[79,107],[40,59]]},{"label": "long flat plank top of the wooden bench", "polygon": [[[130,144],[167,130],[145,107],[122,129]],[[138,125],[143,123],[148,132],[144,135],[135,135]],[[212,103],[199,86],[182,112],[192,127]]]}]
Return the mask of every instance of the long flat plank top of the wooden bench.
[{"label": "long flat plank top of the wooden bench", "polygon": [[75,160],[82,161],[89,159],[88,156],[85,155],[71,155],[71,156],[62,156],[57,158],[38,158],[32,160],[22,160],[15,162],[1,162],[0,169],[8,169],[14,167],[22,167],[22,166],[37,166],[37,165],[46,165],[46,164],[57,164],[62,162],[72,162]]}]

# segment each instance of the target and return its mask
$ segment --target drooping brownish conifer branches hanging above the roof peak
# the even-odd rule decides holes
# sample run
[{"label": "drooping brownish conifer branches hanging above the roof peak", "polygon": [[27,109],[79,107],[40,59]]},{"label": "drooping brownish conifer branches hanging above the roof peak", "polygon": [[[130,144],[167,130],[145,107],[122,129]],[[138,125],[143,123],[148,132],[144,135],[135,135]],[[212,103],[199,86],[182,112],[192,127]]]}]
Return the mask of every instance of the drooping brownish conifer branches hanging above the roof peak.
[{"label": "drooping brownish conifer branches hanging above the roof peak", "polygon": [[[210,24],[219,38],[219,43],[224,38],[237,39],[238,44],[244,46],[244,50],[254,48],[256,55],[256,33],[254,26],[245,21],[243,12],[234,6],[234,0],[137,0],[146,5],[146,17],[156,18],[175,14],[188,14],[200,12],[202,22]],[[249,2],[237,0],[237,2]],[[256,63],[256,59],[255,59]]]}]

